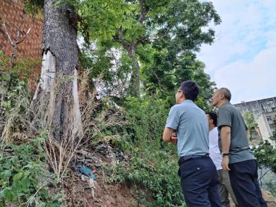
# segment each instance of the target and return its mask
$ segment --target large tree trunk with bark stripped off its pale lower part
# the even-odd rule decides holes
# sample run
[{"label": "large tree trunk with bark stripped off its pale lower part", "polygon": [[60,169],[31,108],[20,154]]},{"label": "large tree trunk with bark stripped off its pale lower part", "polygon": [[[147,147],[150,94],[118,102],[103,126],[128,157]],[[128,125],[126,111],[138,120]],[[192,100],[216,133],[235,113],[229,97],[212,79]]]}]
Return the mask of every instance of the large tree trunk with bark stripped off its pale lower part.
[{"label": "large tree trunk with bark stripped off its pale lower part", "polygon": [[34,120],[57,140],[82,135],[77,92],[77,22],[70,6],[44,1],[41,80],[34,95]]}]

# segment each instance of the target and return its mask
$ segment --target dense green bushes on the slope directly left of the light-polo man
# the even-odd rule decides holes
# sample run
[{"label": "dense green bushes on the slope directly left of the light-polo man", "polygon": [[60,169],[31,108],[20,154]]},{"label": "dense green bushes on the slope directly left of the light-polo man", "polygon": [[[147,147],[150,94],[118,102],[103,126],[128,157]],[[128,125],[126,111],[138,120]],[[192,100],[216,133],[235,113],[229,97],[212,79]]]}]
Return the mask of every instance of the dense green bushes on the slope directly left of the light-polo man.
[{"label": "dense green bushes on the slope directly left of the light-polo man", "polygon": [[[168,101],[144,97],[128,99],[125,104],[130,125],[117,143],[132,159],[127,166],[117,166],[112,180],[127,181],[144,189],[144,193],[140,193],[146,206],[184,206],[177,175],[177,149],[161,139]],[[149,197],[155,201],[150,202]]]}]

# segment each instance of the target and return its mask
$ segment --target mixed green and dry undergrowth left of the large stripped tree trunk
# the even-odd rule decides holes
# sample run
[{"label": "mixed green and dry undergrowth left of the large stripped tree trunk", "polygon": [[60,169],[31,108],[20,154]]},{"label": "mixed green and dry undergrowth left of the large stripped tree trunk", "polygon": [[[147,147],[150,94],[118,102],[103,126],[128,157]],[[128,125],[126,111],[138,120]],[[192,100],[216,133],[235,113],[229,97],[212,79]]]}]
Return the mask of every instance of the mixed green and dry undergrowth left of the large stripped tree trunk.
[{"label": "mixed green and dry undergrowth left of the large stripped tree trunk", "polygon": [[61,195],[48,190],[57,181],[43,149],[47,137],[26,133],[30,106],[26,79],[1,71],[0,83],[0,206],[60,206]]}]

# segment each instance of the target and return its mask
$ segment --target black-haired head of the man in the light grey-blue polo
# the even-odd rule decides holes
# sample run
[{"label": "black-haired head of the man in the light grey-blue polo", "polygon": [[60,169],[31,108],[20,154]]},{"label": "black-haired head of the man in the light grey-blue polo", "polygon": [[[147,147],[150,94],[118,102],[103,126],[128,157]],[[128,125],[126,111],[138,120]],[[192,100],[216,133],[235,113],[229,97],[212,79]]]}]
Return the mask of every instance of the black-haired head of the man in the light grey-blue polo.
[{"label": "black-haired head of the man in the light grey-blue polo", "polygon": [[189,99],[195,101],[199,95],[199,86],[193,81],[184,81],[175,94],[175,100],[177,103]]}]

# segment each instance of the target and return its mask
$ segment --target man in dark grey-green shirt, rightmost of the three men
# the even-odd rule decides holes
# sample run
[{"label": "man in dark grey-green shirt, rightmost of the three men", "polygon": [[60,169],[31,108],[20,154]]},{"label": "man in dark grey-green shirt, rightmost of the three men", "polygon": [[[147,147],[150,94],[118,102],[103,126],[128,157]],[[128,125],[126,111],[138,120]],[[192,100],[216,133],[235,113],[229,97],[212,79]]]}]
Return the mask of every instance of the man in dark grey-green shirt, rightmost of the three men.
[{"label": "man in dark grey-green shirt, rightmost of the three men", "polygon": [[267,206],[259,188],[257,161],[249,148],[246,124],[230,99],[227,88],[219,88],[213,95],[213,106],[219,108],[217,128],[223,157],[221,167],[229,171],[239,206]]}]

